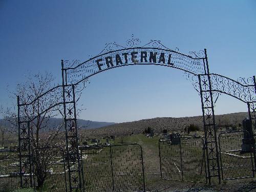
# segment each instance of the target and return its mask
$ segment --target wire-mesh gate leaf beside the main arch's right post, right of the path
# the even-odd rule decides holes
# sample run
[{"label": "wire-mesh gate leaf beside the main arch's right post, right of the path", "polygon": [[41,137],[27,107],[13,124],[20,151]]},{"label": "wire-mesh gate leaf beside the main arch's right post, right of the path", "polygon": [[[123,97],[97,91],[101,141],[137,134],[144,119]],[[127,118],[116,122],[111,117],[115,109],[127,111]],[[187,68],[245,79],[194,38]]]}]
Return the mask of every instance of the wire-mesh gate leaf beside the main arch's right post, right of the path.
[{"label": "wire-mesh gate leaf beside the main arch's right post, right of the path", "polygon": [[181,137],[178,143],[159,140],[161,179],[206,183],[202,137]]}]

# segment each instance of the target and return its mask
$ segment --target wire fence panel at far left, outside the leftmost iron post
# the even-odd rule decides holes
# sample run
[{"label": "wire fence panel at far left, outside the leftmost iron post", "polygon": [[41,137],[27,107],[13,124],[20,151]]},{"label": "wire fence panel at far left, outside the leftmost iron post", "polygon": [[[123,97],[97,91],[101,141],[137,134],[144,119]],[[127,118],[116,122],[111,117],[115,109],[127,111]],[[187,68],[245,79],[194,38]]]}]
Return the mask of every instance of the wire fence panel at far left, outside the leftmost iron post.
[{"label": "wire fence panel at far left, outside the leftmost iron post", "polygon": [[19,175],[18,151],[0,151],[0,191],[18,188],[20,185]]}]

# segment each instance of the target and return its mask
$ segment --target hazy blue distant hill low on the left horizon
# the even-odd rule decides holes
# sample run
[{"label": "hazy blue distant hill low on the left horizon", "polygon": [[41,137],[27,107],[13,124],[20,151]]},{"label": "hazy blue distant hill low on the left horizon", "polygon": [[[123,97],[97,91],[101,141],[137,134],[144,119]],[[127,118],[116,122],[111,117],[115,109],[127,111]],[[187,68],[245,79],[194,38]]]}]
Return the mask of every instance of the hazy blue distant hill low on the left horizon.
[{"label": "hazy blue distant hill low on the left horizon", "polygon": [[[56,127],[62,123],[61,118],[49,118],[47,125],[48,127]],[[114,122],[100,122],[100,121],[90,121],[90,120],[83,120],[83,119],[77,119],[77,126],[81,127],[81,129],[96,129],[102,126],[108,126],[113,125]],[[0,119],[0,126],[11,126],[11,123]]]}]

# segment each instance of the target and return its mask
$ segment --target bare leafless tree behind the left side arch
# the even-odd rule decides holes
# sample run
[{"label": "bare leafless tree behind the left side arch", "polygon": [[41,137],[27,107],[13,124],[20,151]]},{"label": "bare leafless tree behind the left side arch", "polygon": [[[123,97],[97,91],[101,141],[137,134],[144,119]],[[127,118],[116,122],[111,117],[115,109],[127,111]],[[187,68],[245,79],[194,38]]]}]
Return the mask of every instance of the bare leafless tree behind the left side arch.
[{"label": "bare leafless tree behind the left side arch", "polygon": [[[37,177],[38,187],[44,185],[48,176],[51,160],[56,156],[56,146],[65,146],[65,130],[63,121],[51,122],[52,117],[63,117],[62,86],[54,87],[54,77],[51,73],[29,75],[24,83],[17,84],[11,97],[19,96],[19,111],[22,121],[30,122],[30,139],[33,150],[34,174]],[[76,86],[76,94],[79,100],[82,90],[88,80],[82,86]],[[90,83],[90,82],[89,82]],[[77,110],[77,115],[82,109]],[[17,109],[5,110],[6,119],[16,127]]]}]

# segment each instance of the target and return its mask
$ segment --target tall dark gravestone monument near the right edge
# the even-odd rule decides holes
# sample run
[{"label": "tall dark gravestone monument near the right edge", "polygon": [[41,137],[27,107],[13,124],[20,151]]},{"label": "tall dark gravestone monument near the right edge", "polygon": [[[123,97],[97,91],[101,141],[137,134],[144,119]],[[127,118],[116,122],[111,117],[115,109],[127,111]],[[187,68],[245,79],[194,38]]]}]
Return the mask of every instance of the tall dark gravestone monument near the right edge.
[{"label": "tall dark gravestone monument near the right edge", "polygon": [[251,121],[246,117],[243,120],[244,138],[242,139],[242,152],[250,152],[253,145],[255,145],[255,139],[253,138]]}]

